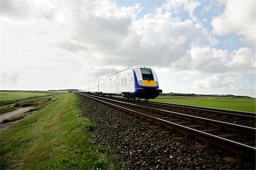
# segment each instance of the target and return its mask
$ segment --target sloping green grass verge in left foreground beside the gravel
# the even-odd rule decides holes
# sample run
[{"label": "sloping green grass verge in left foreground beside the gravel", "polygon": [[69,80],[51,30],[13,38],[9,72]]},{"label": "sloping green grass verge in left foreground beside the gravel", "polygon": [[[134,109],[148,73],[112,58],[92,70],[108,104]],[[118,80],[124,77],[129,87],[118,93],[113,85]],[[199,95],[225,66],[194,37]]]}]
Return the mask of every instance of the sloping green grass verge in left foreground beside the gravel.
[{"label": "sloping green grass verge in left foreground beside the gravel", "polygon": [[89,140],[92,124],[82,118],[75,94],[0,130],[1,169],[114,169],[106,147]]}]

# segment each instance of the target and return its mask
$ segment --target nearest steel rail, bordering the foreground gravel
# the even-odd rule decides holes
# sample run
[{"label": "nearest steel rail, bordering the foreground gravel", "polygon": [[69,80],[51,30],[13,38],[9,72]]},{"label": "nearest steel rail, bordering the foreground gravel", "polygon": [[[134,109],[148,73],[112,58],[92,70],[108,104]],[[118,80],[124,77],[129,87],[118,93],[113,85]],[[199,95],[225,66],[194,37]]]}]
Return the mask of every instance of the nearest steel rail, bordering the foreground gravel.
[{"label": "nearest steel rail, bordering the foreground gravel", "polygon": [[84,94],[80,94],[80,95],[89,97],[90,99],[93,99],[93,100],[97,100],[101,103],[110,105],[114,108],[121,109],[124,112],[132,113],[132,114],[134,114],[134,116],[144,118],[147,121],[152,121],[155,124],[162,125],[162,126],[168,128],[168,129],[173,129],[173,130],[179,131],[180,133],[183,133],[183,134],[186,134],[186,135],[191,135],[192,137],[194,137],[196,139],[208,142],[210,145],[216,145],[218,147],[221,147],[221,148],[224,148],[226,150],[232,151],[232,152],[234,152],[238,155],[246,156],[247,159],[249,159],[250,161],[255,162],[255,153],[256,153],[256,148],[255,147],[247,146],[243,143],[231,141],[229,139],[225,139],[225,138],[222,138],[222,137],[218,137],[216,135],[205,133],[204,131],[188,128],[188,127],[183,126],[183,125],[175,124],[174,122],[162,120],[162,119],[157,118],[157,117],[152,117],[152,116],[149,116],[147,114],[139,113],[137,111],[133,111],[132,109],[128,109],[128,108],[121,107],[121,106],[113,104],[113,103],[109,103],[107,101],[96,99],[95,96],[92,97],[92,96],[84,95]]}]

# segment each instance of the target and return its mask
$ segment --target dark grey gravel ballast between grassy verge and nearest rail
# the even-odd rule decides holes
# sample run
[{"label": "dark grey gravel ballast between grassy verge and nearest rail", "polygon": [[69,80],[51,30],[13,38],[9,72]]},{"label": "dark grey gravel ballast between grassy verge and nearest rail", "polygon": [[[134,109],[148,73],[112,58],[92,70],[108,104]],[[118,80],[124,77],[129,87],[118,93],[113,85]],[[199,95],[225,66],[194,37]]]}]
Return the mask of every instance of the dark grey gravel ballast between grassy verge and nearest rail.
[{"label": "dark grey gravel ballast between grassy verge and nearest rail", "polygon": [[82,116],[94,124],[93,143],[110,147],[121,160],[119,169],[255,168],[232,152],[78,96]]}]

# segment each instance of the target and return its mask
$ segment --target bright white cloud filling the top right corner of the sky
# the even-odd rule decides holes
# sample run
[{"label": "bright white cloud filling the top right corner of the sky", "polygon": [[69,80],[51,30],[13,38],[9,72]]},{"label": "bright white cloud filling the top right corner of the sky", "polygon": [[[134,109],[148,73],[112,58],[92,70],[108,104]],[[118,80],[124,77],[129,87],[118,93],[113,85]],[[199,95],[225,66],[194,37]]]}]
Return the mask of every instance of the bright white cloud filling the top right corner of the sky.
[{"label": "bright white cloud filling the top right corner of the sky", "polygon": [[216,35],[241,36],[243,44],[255,44],[255,1],[227,1],[224,11],[212,20]]}]

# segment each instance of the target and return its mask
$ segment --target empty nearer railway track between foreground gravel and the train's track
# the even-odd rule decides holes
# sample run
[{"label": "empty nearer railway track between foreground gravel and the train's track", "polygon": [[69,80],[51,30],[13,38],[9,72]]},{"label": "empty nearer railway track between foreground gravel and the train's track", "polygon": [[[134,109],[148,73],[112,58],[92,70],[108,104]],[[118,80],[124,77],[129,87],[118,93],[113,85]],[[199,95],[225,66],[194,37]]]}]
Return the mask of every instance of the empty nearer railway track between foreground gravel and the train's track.
[{"label": "empty nearer railway track between foreground gravel and the train's track", "polygon": [[106,97],[88,94],[80,95],[134,114],[134,116],[144,118],[147,121],[155,122],[155,124],[163,125],[166,128],[192,135],[201,141],[208,142],[209,145],[225,148],[255,162],[255,128],[165,109],[151,108]]}]

